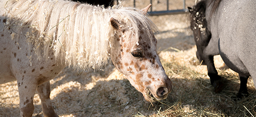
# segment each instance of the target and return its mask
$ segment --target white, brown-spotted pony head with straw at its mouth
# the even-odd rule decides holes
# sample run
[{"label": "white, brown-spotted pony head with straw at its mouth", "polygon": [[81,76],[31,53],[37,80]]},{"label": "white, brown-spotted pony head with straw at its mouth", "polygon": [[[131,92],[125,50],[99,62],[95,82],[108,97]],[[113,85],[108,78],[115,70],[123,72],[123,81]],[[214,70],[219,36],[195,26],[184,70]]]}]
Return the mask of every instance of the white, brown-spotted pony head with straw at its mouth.
[{"label": "white, brown-spotted pony head with straw at its mouth", "polygon": [[[162,100],[172,89],[156,51],[155,25],[145,16],[145,11],[130,10],[125,18],[111,18],[115,30],[110,41],[111,58],[115,67],[125,74],[147,101]],[[122,12],[122,11],[121,11]],[[122,12],[124,14],[124,12]]]}]

